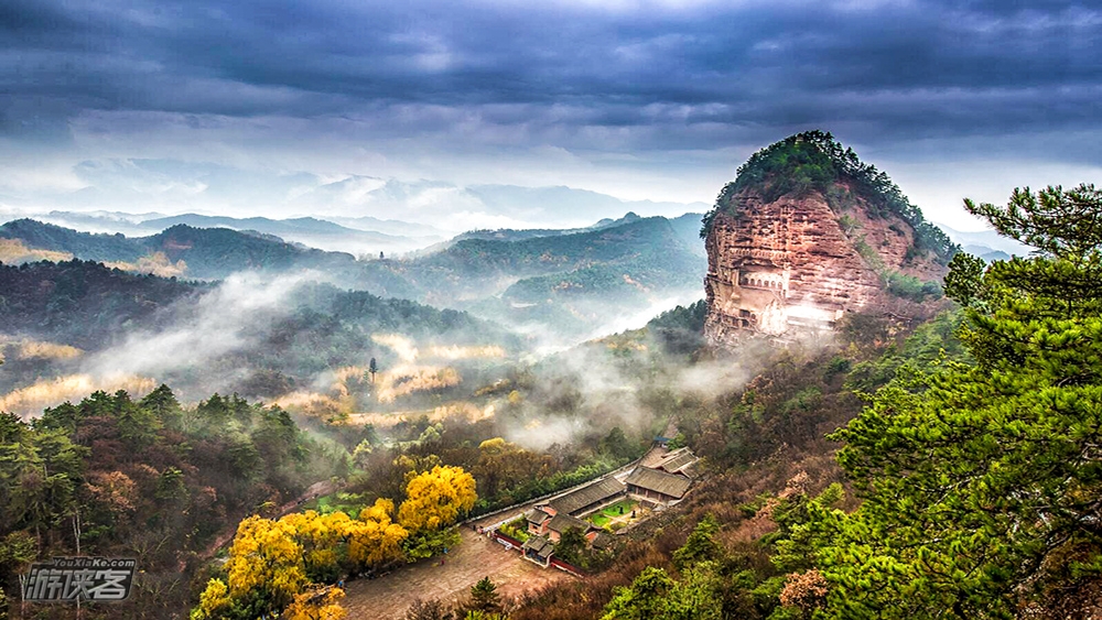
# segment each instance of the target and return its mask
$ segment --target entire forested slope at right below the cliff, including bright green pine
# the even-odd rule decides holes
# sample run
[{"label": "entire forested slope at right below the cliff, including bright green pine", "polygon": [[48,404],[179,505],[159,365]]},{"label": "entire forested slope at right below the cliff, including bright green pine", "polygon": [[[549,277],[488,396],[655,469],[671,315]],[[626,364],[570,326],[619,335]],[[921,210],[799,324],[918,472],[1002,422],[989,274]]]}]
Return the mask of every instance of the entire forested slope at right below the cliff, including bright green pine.
[{"label": "entire forested slope at right below the cliff, including bright green pine", "polygon": [[852,315],[683,410],[701,488],[511,617],[1096,614],[1100,207],[1093,186],[968,203],[1037,253],[958,254],[934,319]]}]

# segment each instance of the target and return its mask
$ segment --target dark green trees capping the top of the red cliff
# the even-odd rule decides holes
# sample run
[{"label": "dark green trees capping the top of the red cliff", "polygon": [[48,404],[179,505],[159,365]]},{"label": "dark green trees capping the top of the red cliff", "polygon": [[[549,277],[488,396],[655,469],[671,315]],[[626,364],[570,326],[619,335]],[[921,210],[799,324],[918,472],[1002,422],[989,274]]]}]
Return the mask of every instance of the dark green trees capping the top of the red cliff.
[{"label": "dark green trees capping the top of the red cliff", "polygon": [[738,167],[735,181],[720,193],[715,208],[704,216],[701,237],[707,236],[720,210],[737,215],[732,213],[733,199],[747,187],[760,191],[766,202],[819,192],[840,209],[851,198],[840,193],[839,185],[865,198],[874,209],[869,215],[895,215],[906,221],[915,230],[915,247],[931,252],[942,264],[958,251],[941,229],[922,218],[921,210],[910,204],[887,174],[862,163],[853,149],[843,149],[833,135],[818,130],[791,135],[754,153]]}]

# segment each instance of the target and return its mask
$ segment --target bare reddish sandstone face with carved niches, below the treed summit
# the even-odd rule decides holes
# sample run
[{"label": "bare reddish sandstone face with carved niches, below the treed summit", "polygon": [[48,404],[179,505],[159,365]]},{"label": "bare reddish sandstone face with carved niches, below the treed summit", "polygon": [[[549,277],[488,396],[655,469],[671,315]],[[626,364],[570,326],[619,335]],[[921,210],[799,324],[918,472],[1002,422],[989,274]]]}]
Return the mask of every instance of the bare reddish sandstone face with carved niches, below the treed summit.
[{"label": "bare reddish sandstone face with carved niches, below the treed summit", "polygon": [[908,257],[914,231],[900,218],[869,217],[860,199],[834,213],[819,193],[763,203],[750,191],[716,214],[706,238],[707,339],[832,329],[846,312],[895,306],[882,274],[923,280],[943,268]]}]

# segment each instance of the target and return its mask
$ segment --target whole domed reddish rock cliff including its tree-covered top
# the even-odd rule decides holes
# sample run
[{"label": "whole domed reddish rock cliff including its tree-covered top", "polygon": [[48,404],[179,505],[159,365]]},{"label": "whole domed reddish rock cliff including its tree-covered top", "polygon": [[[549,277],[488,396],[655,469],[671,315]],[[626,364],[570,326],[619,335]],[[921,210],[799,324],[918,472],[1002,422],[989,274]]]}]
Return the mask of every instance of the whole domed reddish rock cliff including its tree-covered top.
[{"label": "whole domed reddish rock cliff including its tree-covered top", "polygon": [[702,230],[705,336],[785,337],[833,328],[846,312],[893,312],[940,295],[955,247],[886,175],[828,133],[759,151]]}]

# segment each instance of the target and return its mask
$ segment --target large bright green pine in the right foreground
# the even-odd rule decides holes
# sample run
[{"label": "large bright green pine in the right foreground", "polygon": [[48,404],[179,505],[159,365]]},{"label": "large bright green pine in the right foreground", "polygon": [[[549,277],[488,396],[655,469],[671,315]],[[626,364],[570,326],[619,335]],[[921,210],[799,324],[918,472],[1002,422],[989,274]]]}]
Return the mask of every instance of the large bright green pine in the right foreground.
[{"label": "large bright green pine in the right foreground", "polygon": [[954,261],[974,361],[901,376],[834,435],[863,503],[809,525],[831,617],[1013,618],[1102,575],[1102,193],[965,207],[1037,253]]}]

